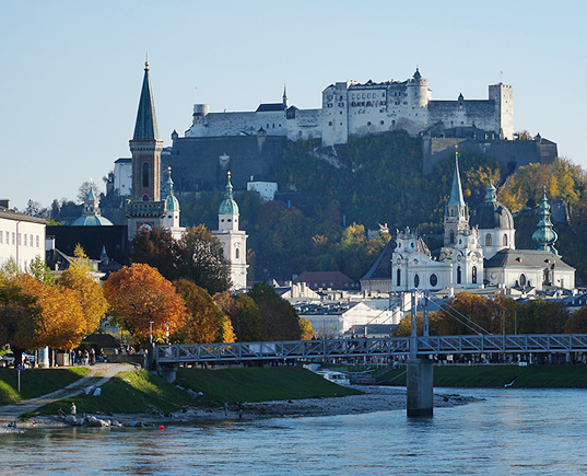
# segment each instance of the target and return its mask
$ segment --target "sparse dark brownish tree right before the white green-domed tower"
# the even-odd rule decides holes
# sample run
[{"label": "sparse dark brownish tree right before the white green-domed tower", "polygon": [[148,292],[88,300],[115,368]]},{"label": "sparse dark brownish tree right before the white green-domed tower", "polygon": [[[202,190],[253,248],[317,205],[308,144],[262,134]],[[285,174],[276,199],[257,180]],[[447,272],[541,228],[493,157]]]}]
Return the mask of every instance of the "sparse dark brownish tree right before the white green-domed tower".
[{"label": "sparse dark brownish tree right before the white green-domed tower", "polygon": [[187,228],[179,240],[181,277],[206,289],[210,294],[228,290],[228,262],[222,243],[203,224]]}]

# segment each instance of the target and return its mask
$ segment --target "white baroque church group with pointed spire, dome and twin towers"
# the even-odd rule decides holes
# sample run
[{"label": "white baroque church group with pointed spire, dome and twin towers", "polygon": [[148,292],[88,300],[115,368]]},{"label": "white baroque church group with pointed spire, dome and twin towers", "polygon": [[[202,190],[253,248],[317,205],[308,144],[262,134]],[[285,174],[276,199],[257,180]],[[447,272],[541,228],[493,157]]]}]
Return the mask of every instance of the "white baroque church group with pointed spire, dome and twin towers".
[{"label": "white baroque church group with pointed spire, dome and twin towers", "polygon": [[444,217],[444,245],[431,253],[418,232],[397,231],[377,262],[361,280],[369,292],[412,289],[442,291],[515,288],[521,292],[573,289],[575,269],[554,248],[550,206],[544,196],[538,209],[536,249],[516,249],[514,218],[489,185],[484,201],[472,213],[465,202],[458,167]]}]

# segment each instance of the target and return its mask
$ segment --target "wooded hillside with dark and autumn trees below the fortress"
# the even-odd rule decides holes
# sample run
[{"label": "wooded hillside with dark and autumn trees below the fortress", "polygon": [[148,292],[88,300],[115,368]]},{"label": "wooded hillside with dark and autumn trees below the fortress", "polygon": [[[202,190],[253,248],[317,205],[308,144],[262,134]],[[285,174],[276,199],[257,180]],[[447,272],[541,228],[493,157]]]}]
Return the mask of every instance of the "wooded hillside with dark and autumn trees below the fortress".
[{"label": "wooded hillside with dark and autumn trees below the fortress", "polygon": [[[287,142],[271,171],[279,184],[275,200],[261,205],[255,193],[237,194],[240,229],[248,239],[249,279],[292,279],[303,271],[340,270],[360,279],[388,239],[367,241],[366,230],[385,224],[418,228],[431,249],[442,243],[442,222],[450,193],[455,161],[441,162],[434,173],[422,173],[421,138],[389,132],[351,139],[344,147],[320,149],[316,141]],[[531,233],[538,218],[532,208],[543,190],[563,198],[570,223],[555,223],[556,247],[577,268],[577,282],[587,278],[587,253],[578,236],[587,231],[587,179],[567,160],[551,165],[530,164],[505,177],[494,159],[459,154],[465,199],[470,209],[483,200],[490,182],[502,184],[498,199],[519,217],[516,246],[533,248]],[[505,185],[504,185],[505,183]],[[218,228],[222,193],[201,193],[181,199],[181,222]]]}]

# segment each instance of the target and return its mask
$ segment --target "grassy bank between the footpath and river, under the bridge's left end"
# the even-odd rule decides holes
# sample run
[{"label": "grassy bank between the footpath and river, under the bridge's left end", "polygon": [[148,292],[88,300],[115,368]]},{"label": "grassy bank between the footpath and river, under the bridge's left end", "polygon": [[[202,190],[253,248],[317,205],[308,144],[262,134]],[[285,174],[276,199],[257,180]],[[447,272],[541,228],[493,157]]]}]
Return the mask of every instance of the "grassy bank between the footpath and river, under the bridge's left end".
[{"label": "grassy bank between the footpath and river, under the bridge's left end", "polygon": [[[102,386],[102,395],[78,395],[63,398],[39,408],[36,414],[55,415],[58,408],[68,411],[72,402],[78,413],[143,414],[155,407],[164,414],[185,406],[214,407],[224,402],[267,402],[355,395],[360,392],[328,382],[320,375],[302,368],[250,369],[180,369],[177,383],[190,393],[167,383],[144,370],[121,372]],[[31,415],[28,415],[31,416]]]}]

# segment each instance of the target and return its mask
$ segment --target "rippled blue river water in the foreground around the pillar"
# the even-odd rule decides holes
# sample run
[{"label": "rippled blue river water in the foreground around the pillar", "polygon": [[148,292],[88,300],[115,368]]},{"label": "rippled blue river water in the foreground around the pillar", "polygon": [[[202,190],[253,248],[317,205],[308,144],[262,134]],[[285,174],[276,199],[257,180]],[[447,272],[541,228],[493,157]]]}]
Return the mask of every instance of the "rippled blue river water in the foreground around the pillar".
[{"label": "rippled blue river water in the foreground around the pillar", "polygon": [[587,391],[456,390],[485,398],[316,418],[0,436],[7,475],[577,475],[587,473]]}]

